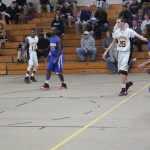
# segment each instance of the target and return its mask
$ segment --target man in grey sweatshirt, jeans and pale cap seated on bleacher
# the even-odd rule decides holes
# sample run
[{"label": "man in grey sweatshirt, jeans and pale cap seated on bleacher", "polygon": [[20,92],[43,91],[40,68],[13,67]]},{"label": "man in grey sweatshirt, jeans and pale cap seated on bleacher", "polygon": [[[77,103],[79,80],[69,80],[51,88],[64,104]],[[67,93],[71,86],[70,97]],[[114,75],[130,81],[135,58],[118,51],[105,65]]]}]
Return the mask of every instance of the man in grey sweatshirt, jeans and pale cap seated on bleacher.
[{"label": "man in grey sweatshirt, jeans and pale cap seated on bleacher", "polygon": [[81,47],[76,49],[79,61],[85,61],[85,55],[92,55],[92,61],[96,61],[97,49],[95,47],[95,39],[90,36],[88,31],[84,31],[81,38]]}]

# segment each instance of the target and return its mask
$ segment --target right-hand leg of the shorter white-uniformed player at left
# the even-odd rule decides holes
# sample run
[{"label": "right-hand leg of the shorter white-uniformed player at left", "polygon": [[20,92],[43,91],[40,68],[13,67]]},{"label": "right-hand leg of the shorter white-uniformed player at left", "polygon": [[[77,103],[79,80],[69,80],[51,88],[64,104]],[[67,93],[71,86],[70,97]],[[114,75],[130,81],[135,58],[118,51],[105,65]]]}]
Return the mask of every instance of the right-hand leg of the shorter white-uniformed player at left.
[{"label": "right-hand leg of the shorter white-uniformed player at left", "polygon": [[33,66],[34,66],[33,67],[33,72],[32,72],[32,74],[30,76],[30,80],[32,82],[37,82],[37,80],[35,79],[35,73],[36,73],[36,71],[38,69],[38,58],[37,58],[37,54],[36,53],[33,54]]}]

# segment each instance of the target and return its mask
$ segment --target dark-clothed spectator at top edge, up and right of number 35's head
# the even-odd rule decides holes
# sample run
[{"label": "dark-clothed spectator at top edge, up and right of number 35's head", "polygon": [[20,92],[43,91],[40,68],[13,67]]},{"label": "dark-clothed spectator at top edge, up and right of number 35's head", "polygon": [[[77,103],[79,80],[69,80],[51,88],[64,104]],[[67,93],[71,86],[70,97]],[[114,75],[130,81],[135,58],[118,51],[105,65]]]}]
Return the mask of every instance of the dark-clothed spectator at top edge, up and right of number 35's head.
[{"label": "dark-clothed spectator at top edge, up and right of number 35's head", "polygon": [[132,3],[129,6],[129,11],[132,13],[132,16],[134,17],[138,10],[140,9],[140,4],[137,0],[132,0]]}]

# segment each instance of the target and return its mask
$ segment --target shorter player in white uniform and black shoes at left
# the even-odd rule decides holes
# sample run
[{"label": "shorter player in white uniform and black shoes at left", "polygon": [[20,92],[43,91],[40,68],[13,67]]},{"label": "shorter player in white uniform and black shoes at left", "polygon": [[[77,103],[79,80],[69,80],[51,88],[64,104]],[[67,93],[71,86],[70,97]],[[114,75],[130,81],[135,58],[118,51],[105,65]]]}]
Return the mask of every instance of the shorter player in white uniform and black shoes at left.
[{"label": "shorter player in white uniform and black shoes at left", "polygon": [[[30,36],[28,36],[25,40],[25,49],[27,48],[27,57],[28,57],[28,68],[26,76],[24,78],[24,82],[26,83],[31,83],[30,80],[33,82],[37,82],[37,80],[34,77],[38,68],[38,58],[36,53],[37,43],[38,43],[38,36],[36,36],[36,30],[31,29]],[[33,72],[30,76],[30,71],[32,67]]]}]

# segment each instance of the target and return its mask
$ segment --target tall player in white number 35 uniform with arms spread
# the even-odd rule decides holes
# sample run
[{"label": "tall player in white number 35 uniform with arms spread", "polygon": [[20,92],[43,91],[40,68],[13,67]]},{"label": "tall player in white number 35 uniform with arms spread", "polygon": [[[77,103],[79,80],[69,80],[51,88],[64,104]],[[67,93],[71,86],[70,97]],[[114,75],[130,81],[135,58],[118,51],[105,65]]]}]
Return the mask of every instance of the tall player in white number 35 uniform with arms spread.
[{"label": "tall player in white number 35 uniform with arms spread", "polygon": [[103,54],[103,58],[105,58],[107,52],[115,45],[115,43],[118,42],[118,72],[119,74],[121,74],[122,85],[122,90],[119,96],[125,96],[127,95],[127,90],[129,89],[129,87],[133,85],[133,82],[127,81],[129,62],[132,57],[132,53],[130,50],[130,38],[137,37],[143,41],[145,41],[145,38],[137,34],[132,29],[125,28],[125,20],[123,18],[117,19],[117,24],[119,29],[114,32],[114,39]]}]

